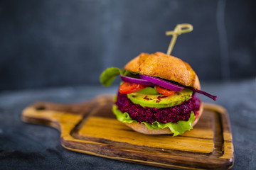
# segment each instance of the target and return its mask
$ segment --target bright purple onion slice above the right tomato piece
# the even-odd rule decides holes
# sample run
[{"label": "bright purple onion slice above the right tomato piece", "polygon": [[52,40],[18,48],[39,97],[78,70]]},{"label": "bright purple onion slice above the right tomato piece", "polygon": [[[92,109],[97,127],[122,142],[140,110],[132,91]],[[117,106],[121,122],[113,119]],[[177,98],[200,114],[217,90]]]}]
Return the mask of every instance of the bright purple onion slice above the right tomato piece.
[{"label": "bright purple onion slice above the right tomato piece", "polygon": [[159,85],[161,87],[164,87],[165,89],[169,89],[171,91],[182,91],[184,89],[183,86],[178,86],[176,84],[172,84],[168,81],[164,81],[162,79],[156,78],[156,77],[149,77],[146,75],[139,75],[141,79],[145,79],[147,81],[150,81],[153,84]]}]

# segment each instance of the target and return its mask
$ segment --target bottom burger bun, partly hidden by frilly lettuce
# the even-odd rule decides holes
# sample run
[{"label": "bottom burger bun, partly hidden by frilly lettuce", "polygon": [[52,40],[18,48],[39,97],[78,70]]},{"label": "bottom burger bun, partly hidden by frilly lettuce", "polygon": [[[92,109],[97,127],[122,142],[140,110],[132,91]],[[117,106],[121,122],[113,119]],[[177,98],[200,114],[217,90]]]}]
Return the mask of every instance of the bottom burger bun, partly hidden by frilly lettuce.
[{"label": "bottom burger bun, partly hidden by frilly lettuce", "polygon": [[[203,113],[203,103],[201,103],[198,114],[196,115],[195,120],[192,123],[192,127],[196,125],[198,122],[199,118],[201,117]],[[146,125],[142,123],[125,123],[125,125],[129,126],[129,128],[132,128],[133,130],[137,132],[144,133],[146,135],[163,135],[163,134],[174,134],[171,132],[171,130],[167,127],[161,130],[149,130],[149,128],[146,127]]]}]

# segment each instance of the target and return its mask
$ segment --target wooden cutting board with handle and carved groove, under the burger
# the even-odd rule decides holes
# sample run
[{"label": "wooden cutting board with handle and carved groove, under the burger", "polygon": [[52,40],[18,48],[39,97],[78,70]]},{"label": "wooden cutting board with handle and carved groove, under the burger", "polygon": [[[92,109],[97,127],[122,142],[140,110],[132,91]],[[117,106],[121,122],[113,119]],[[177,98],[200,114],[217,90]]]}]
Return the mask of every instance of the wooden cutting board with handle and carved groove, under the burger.
[{"label": "wooden cutting board with handle and carved groove, under the burger", "polygon": [[116,120],[113,96],[75,104],[37,102],[23,110],[26,123],[60,130],[66,149],[171,169],[230,169],[234,149],[225,108],[204,103],[197,125],[183,135],[143,135]]}]

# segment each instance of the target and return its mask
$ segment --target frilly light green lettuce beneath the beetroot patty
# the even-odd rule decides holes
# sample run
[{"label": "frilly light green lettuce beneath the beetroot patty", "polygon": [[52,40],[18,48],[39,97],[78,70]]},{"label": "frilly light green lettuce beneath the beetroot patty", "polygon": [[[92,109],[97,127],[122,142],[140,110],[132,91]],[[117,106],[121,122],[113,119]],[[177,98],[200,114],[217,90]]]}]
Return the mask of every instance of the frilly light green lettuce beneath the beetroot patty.
[{"label": "frilly light green lettuce beneath the beetroot patty", "polygon": [[[114,115],[117,116],[117,120],[119,120],[122,123],[133,123],[133,122],[138,123],[136,120],[132,120],[132,118],[129,116],[127,112],[122,113],[121,111],[119,111],[119,109],[117,108],[117,105],[115,104],[113,105],[112,111]],[[159,123],[158,121],[155,121],[152,124],[146,123],[146,122],[142,122],[142,123],[146,125],[146,127],[149,128],[149,130],[161,130],[168,127],[171,130],[171,132],[174,133],[174,136],[177,136],[177,135],[183,134],[187,130],[193,129],[192,123],[194,120],[195,120],[195,115],[193,112],[191,112],[191,115],[188,121],[179,120],[177,123]]]}]

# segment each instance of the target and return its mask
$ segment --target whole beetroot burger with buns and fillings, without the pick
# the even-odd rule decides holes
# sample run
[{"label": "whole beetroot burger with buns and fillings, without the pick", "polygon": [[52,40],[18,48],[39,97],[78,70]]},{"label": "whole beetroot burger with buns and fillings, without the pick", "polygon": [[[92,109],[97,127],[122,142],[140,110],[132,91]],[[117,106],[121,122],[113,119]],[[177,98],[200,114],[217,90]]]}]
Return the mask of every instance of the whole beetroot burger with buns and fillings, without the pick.
[{"label": "whole beetroot burger with buns and fillings, without the pick", "polygon": [[122,83],[112,111],[117,120],[148,135],[176,136],[193,129],[203,113],[197,93],[216,99],[201,91],[188,63],[163,52],[142,53],[124,69],[108,68],[100,81],[110,86],[118,75]]}]

